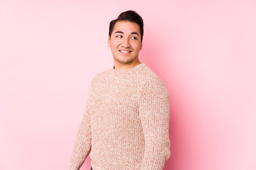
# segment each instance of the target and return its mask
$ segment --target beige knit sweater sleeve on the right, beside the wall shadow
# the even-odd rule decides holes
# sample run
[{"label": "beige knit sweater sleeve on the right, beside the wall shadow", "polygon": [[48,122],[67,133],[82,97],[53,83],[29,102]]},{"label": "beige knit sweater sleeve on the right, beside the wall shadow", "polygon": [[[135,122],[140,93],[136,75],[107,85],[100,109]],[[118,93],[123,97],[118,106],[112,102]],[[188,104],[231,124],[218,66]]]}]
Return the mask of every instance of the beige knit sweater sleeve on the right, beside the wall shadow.
[{"label": "beige knit sweater sleeve on the right, beside the wall shadow", "polygon": [[161,170],[171,155],[169,140],[169,94],[161,80],[146,82],[139,98],[144,132],[142,170]]}]

